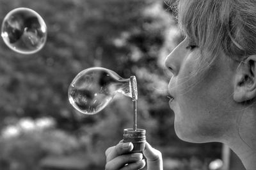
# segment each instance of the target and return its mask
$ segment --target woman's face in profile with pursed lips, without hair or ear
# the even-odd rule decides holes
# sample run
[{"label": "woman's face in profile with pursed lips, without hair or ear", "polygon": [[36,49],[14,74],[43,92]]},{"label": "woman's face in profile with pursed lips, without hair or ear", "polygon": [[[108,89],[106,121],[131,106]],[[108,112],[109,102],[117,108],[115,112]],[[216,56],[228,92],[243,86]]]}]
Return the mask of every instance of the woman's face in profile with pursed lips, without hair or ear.
[{"label": "woman's face in profile with pursed lips, without hair or ear", "polygon": [[236,125],[232,81],[237,64],[223,52],[209,63],[211,58],[185,38],[165,61],[173,73],[168,90],[173,97],[175,132],[184,141],[220,141]]}]

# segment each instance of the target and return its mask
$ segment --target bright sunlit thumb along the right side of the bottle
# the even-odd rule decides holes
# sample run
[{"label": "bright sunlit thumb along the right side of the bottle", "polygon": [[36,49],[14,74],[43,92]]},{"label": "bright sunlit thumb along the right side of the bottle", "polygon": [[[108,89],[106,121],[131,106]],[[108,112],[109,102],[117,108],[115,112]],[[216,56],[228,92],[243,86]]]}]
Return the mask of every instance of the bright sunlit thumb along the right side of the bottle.
[{"label": "bright sunlit thumb along the right side of the bottle", "polygon": [[163,170],[162,153],[156,150],[146,142],[143,155],[147,158],[147,170]]}]

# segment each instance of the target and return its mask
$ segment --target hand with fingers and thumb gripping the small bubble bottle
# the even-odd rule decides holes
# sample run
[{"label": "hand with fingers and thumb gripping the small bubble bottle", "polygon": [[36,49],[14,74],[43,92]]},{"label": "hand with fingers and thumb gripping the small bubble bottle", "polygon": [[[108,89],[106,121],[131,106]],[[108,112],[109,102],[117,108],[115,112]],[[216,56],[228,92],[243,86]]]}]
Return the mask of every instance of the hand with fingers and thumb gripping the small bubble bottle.
[{"label": "hand with fingers and thumb gripping the small bubble bottle", "polygon": [[[145,167],[145,160],[141,153],[131,153],[132,143],[120,142],[116,146],[106,150],[106,168],[105,170],[134,170]],[[145,151],[147,158],[148,170],[163,170],[163,160],[161,152],[155,150],[146,143]]]}]

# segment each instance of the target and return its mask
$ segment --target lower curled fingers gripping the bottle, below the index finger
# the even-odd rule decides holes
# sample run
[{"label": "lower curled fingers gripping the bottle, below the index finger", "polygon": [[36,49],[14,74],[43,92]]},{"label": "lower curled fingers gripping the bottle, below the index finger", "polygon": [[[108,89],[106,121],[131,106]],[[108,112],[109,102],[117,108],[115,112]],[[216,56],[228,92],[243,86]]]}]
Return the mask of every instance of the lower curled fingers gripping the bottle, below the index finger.
[{"label": "lower curled fingers gripping the bottle, below the index finger", "polygon": [[[131,153],[127,155],[120,155],[118,157],[113,158],[106,164],[106,170],[111,169],[130,169],[130,168],[136,168],[140,169],[145,166],[143,162],[145,160],[142,160],[143,155],[142,153]],[[131,163],[131,164],[130,164]],[[127,164],[127,166],[125,166]]]}]

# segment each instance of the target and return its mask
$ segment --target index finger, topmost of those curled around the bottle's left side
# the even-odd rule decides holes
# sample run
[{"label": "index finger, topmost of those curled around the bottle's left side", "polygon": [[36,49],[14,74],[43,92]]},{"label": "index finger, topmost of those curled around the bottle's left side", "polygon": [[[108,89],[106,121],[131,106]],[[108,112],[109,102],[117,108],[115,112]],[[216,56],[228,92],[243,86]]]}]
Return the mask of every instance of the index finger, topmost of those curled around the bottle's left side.
[{"label": "index finger, topmost of those curled around the bottle's left side", "polygon": [[118,157],[119,155],[123,155],[125,153],[129,153],[133,149],[132,143],[118,143],[116,146],[108,148],[106,150],[106,162],[109,162],[115,157]]}]

